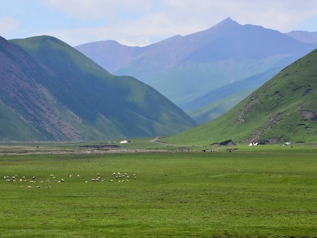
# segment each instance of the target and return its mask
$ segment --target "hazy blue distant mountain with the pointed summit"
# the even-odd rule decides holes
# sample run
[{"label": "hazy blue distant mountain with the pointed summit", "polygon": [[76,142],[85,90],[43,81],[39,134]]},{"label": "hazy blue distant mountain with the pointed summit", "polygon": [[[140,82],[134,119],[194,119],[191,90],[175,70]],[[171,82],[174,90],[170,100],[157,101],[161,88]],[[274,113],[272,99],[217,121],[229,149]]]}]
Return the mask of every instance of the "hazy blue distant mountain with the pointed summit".
[{"label": "hazy blue distant mountain with the pointed summit", "polygon": [[[91,49],[95,49],[98,56],[110,56],[118,62],[120,54],[100,45],[103,44],[90,43],[89,46],[94,46]],[[76,48],[81,50],[82,46]],[[227,18],[205,31],[176,35],[142,47],[133,58],[124,58],[121,65],[105,65],[105,68],[112,68],[110,72],[116,75],[137,77],[181,105],[229,83],[264,73],[281,61],[288,65],[316,48],[315,44],[299,42],[278,31],[240,25]],[[123,46],[120,51],[124,51]],[[87,52],[87,48],[82,51]],[[98,56],[89,55],[104,65],[106,60]]]}]

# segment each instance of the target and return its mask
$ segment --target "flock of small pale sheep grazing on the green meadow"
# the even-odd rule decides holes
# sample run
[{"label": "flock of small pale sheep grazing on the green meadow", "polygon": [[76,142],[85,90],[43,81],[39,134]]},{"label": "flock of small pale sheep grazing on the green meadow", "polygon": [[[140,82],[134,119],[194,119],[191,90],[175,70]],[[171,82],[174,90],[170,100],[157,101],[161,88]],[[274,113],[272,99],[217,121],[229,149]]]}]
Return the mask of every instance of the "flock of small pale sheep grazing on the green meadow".
[{"label": "flock of small pale sheep grazing on the green meadow", "polygon": [[[109,182],[113,182],[113,179],[116,179],[118,182],[130,182],[130,177],[127,173],[121,173],[118,172],[118,173],[112,173],[112,179],[109,180]],[[72,175],[68,175],[68,178],[71,178]],[[77,175],[77,178],[79,178],[80,175]],[[133,179],[137,179],[137,176],[136,174],[133,174],[132,175]],[[16,182],[16,181],[19,181],[19,182],[30,182],[30,183],[36,183],[36,180],[35,180],[35,176],[32,177],[32,179],[26,179],[25,176],[22,176],[20,179],[17,179],[18,176],[15,175],[15,176],[4,176],[3,177],[4,179],[6,179],[7,182]],[[64,183],[65,180],[64,179],[56,179],[56,177],[54,175],[50,175],[49,179],[47,179],[47,182],[51,182],[51,180],[54,181],[54,182],[58,182],[58,183]],[[102,179],[102,176],[100,173],[97,173],[97,178],[94,178],[94,179],[91,179],[92,182],[104,182],[105,179]],[[43,180],[40,181],[41,183],[44,183]],[[88,182],[87,180],[85,182]],[[23,185],[21,185],[21,187],[23,187]],[[28,185],[28,188],[31,188],[32,186],[31,185]],[[41,186],[36,186],[37,188],[41,188]],[[53,186],[51,185],[46,185],[47,188],[52,188]]]}]

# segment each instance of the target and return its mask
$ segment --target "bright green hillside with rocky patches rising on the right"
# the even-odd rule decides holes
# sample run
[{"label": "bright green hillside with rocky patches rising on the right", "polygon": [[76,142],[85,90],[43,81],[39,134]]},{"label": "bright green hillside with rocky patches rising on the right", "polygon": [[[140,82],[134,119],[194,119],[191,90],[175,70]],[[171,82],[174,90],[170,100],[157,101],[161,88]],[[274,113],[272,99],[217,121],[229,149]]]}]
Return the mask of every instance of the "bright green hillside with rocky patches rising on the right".
[{"label": "bright green hillside with rocky patches rising on the right", "polygon": [[163,141],[179,144],[316,141],[317,50],[284,68],[221,117]]}]

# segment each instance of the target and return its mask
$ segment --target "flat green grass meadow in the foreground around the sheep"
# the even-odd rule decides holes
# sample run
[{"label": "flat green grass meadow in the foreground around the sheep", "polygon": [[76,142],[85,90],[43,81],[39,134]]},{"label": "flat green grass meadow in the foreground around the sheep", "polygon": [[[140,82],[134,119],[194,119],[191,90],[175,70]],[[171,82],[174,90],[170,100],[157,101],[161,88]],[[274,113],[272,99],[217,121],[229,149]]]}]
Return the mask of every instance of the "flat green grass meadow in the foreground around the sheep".
[{"label": "flat green grass meadow in the foreground around the sheep", "polygon": [[1,156],[0,237],[317,236],[316,147],[225,149]]}]

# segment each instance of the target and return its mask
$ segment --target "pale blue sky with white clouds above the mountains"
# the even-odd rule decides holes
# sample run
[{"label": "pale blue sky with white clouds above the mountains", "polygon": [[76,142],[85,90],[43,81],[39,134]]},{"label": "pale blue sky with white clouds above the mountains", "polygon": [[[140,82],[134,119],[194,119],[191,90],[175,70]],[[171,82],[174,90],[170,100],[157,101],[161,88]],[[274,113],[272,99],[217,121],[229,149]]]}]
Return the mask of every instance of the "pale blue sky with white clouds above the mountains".
[{"label": "pale blue sky with white clouds above the mountains", "polygon": [[0,0],[0,36],[51,35],[71,46],[101,40],[146,46],[227,17],[280,32],[315,32],[317,0]]}]

